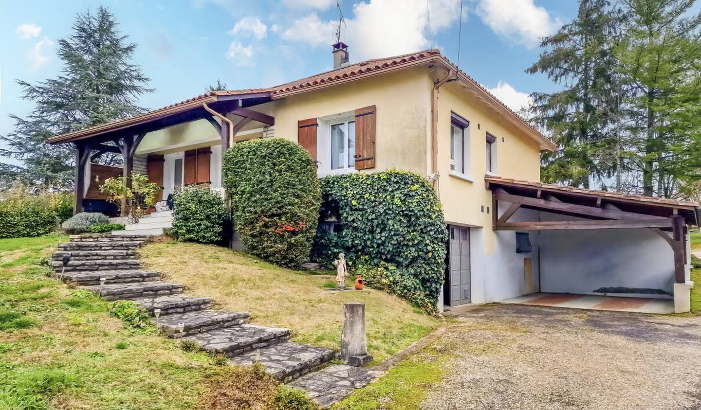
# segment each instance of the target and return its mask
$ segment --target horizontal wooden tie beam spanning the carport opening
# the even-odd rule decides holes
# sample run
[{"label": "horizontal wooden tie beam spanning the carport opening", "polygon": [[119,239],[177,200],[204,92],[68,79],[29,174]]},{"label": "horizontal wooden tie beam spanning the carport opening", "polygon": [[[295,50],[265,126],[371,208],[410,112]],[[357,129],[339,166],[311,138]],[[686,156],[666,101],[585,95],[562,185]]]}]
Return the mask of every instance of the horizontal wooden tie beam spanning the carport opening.
[{"label": "horizontal wooden tie beam spanning the carport opening", "polygon": [[603,221],[538,221],[503,222],[496,225],[496,231],[557,231],[568,229],[622,229],[622,228],[669,228],[672,221],[667,219],[608,219]]}]

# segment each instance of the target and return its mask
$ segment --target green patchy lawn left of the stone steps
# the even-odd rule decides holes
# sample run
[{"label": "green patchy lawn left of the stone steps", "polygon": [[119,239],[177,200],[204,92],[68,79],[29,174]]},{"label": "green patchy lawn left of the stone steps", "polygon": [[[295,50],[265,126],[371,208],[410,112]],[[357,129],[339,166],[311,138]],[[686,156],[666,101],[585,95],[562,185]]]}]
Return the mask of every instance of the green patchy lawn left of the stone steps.
[{"label": "green patchy lawn left of the stone steps", "polygon": [[58,241],[0,240],[0,409],[270,408],[279,390],[264,374],[125,327],[108,302],[48,278]]}]

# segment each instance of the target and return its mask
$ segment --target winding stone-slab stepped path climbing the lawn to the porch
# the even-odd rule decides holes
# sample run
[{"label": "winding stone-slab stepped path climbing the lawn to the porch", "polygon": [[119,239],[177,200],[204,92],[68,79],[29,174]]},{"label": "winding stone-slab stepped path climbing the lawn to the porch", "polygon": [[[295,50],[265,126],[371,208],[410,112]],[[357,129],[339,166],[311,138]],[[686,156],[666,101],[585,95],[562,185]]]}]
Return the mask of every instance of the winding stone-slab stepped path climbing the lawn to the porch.
[{"label": "winding stone-slab stepped path climbing the lawn to the porch", "polygon": [[[161,273],[141,269],[138,248],[144,235],[71,235],[54,252],[57,277],[100,294],[130,300],[151,315],[165,336],[198,343],[202,350],[230,357],[229,363],[260,362],[284,383],[304,390],[322,406],[351,394],[383,372],[345,365],[324,366],[335,353],[327,348],[290,342],[290,330],[247,324],[250,313],[208,310],[214,301],[182,294],[185,286],[164,282]],[[104,283],[101,283],[104,280]],[[295,381],[297,379],[297,381]]]}]

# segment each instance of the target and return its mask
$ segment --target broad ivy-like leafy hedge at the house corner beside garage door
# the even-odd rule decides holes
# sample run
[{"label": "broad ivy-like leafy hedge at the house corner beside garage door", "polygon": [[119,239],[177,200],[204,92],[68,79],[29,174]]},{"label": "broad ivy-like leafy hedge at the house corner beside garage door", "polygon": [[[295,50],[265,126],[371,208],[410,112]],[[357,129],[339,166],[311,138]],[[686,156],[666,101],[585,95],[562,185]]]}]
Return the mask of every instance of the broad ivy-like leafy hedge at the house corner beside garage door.
[{"label": "broad ivy-like leafy hedge at the house corner beside garage door", "polygon": [[313,257],[331,268],[339,252],[369,282],[435,312],[445,271],[448,233],[428,180],[413,172],[322,179],[320,221],[341,221],[340,232],[320,230]]}]

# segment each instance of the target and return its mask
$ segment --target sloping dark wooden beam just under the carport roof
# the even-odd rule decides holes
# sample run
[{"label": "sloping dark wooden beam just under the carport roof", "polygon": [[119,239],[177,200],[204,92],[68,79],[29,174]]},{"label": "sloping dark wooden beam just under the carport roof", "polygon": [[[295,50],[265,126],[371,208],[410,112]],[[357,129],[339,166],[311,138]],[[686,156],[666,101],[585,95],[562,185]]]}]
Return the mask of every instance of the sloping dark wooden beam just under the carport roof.
[{"label": "sloping dark wooden beam just under the carport roof", "polygon": [[554,202],[547,199],[531,198],[529,196],[512,195],[510,193],[496,192],[494,196],[498,200],[503,200],[510,203],[521,203],[532,207],[543,208],[544,210],[554,210],[558,212],[567,212],[583,217],[596,217],[605,219],[640,219],[653,220],[658,219],[665,221],[664,226],[671,226],[671,219],[667,217],[658,217],[656,215],[637,214],[635,212],[625,212],[621,210],[610,210],[605,208],[590,207],[587,205],[576,205],[572,203]]}]

